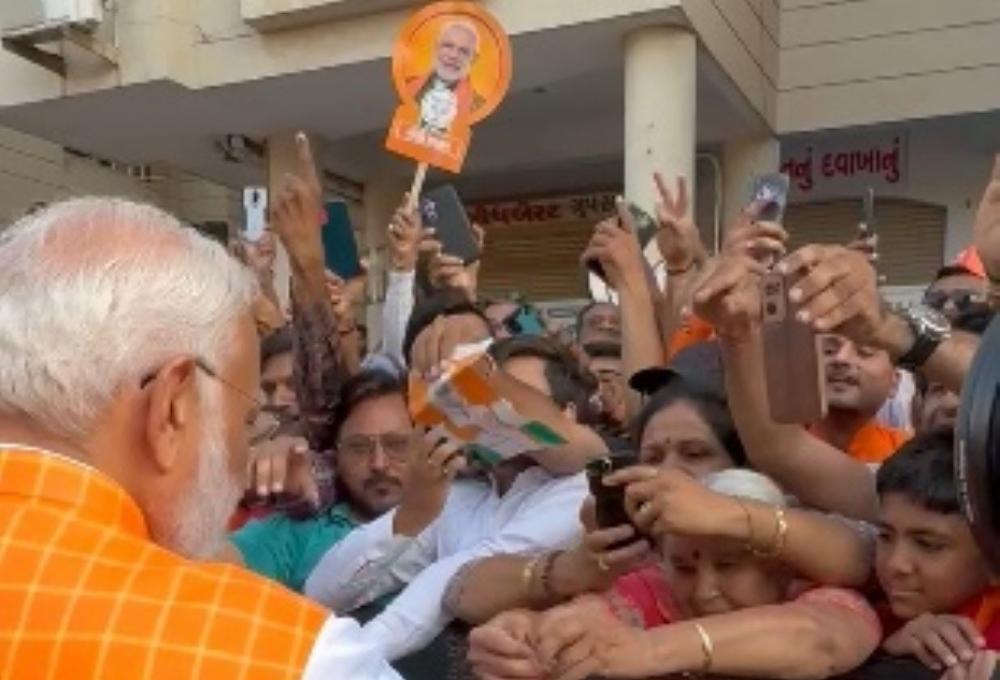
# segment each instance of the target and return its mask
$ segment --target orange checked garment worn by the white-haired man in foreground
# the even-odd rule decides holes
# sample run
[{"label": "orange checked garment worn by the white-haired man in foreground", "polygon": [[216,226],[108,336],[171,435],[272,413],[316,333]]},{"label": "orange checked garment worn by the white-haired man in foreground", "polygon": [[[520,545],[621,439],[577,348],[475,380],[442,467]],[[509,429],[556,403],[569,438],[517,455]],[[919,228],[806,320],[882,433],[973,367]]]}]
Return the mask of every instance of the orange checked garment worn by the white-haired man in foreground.
[{"label": "orange checked garment worn by the white-haired man in foreground", "polygon": [[160,548],[100,472],[0,447],[0,680],[292,680],[328,616]]}]

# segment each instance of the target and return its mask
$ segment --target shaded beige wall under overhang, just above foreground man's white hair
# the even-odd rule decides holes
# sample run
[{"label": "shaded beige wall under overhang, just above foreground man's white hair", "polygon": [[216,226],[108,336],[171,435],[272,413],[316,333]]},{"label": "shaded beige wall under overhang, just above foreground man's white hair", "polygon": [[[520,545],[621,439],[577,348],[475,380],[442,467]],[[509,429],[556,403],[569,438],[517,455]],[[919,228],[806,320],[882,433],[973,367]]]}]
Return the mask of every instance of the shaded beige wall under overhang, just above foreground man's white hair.
[{"label": "shaded beige wall under overhang, just above foreground man's white hair", "polygon": [[189,222],[236,224],[241,219],[238,194],[224,187],[169,168],[154,168],[153,180],[143,182],[58,145],[0,128],[0,228],[34,203],[82,194],[148,201]]}]

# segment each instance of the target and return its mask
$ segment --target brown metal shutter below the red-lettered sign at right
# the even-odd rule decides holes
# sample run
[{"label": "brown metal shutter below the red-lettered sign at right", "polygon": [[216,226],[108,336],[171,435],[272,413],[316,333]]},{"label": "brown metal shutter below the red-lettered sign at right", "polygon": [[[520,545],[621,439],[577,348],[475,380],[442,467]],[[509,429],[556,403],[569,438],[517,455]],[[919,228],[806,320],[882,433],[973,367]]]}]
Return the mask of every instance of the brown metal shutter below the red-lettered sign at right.
[{"label": "brown metal shutter below the red-lettered sign at right", "polygon": [[[857,234],[860,200],[797,203],[788,207],[785,228],[791,248],[806,243],[846,243]],[[875,204],[879,273],[890,286],[928,283],[944,262],[947,211],[908,199],[880,198]]]}]

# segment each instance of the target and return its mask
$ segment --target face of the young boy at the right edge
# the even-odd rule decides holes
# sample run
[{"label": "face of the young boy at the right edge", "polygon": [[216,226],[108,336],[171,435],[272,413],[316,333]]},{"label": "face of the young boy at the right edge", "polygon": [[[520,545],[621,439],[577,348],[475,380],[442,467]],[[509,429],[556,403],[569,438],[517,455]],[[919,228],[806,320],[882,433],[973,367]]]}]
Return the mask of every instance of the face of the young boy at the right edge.
[{"label": "face of the young boy at the right edge", "polygon": [[990,585],[965,518],[898,493],[882,497],[875,566],[893,614],[904,620],[954,613]]}]

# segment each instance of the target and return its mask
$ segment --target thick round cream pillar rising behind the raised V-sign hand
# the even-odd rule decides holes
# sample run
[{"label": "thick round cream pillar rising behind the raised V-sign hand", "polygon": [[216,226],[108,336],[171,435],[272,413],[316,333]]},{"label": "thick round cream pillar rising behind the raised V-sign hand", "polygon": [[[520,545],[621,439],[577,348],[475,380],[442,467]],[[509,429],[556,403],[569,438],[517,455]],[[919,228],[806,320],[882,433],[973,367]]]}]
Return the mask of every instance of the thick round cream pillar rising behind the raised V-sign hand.
[{"label": "thick round cream pillar rising behind the raised V-sign hand", "polygon": [[625,38],[625,196],[654,214],[653,172],[694,196],[696,58],[690,31],[652,26]]}]

